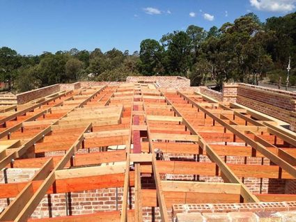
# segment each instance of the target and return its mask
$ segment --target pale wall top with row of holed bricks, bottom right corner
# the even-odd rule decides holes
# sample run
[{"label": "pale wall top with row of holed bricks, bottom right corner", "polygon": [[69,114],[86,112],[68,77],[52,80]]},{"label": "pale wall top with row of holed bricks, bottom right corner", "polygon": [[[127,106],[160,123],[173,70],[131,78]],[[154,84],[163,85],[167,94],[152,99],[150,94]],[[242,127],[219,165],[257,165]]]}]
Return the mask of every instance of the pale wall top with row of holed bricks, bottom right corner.
[{"label": "pale wall top with row of holed bricks, bottom right corner", "polygon": [[173,218],[179,222],[189,221],[296,221],[296,203],[239,203],[173,205]]}]

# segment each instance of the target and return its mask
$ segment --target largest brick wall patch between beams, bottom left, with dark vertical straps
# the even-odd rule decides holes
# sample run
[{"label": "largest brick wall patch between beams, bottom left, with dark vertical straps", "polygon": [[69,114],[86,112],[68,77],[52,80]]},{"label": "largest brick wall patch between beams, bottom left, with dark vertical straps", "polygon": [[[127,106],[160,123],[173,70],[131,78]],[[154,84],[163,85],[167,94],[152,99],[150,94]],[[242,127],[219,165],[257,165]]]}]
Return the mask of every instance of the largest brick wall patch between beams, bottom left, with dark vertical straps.
[{"label": "largest brick wall patch between beams, bottom left, with dark vertical straps", "polygon": [[[134,205],[134,189],[130,190]],[[130,200],[130,198],[128,198]],[[49,216],[67,216],[93,214],[121,210],[123,203],[123,187],[93,189],[72,193],[55,193],[46,195],[32,214],[32,218],[40,219]]]}]

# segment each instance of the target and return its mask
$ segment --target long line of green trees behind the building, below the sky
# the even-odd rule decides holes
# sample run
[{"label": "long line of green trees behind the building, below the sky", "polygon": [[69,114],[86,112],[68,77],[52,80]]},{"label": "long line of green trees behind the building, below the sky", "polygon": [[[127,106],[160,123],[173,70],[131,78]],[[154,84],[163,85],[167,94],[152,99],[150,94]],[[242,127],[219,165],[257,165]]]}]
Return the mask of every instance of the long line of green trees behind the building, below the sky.
[{"label": "long line of green trees behind the building, below the sky", "polygon": [[180,75],[191,79],[192,86],[212,83],[218,88],[228,81],[258,84],[263,77],[284,83],[289,56],[290,84],[296,85],[296,13],[265,22],[249,13],[209,31],[190,25],[160,40],[143,40],[132,54],[114,48],[22,56],[1,47],[0,81],[19,91],[86,79],[125,81],[131,75]]}]

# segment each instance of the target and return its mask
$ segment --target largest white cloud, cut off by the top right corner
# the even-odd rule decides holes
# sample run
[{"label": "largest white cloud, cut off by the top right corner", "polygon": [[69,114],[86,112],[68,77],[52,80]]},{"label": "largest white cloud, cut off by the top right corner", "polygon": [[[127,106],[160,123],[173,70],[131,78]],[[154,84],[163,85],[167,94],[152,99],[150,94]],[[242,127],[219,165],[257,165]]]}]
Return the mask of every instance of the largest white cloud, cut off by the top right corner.
[{"label": "largest white cloud, cut off by the top right corner", "polygon": [[258,10],[271,12],[290,12],[296,8],[296,0],[249,0]]}]

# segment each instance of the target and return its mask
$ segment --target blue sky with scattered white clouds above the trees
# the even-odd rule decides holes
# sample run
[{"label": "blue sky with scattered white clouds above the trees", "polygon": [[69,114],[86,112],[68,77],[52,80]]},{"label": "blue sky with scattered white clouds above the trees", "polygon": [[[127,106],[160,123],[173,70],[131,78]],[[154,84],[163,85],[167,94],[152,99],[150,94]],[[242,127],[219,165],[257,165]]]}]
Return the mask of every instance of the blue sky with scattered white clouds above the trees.
[{"label": "blue sky with scattered white clouds above the trees", "polygon": [[190,24],[220,27],[240,15],[262,21],[295,11],[296,0],[0,0],[0,47],[20,54],[116,47],[132,53],[141,40]]}]

